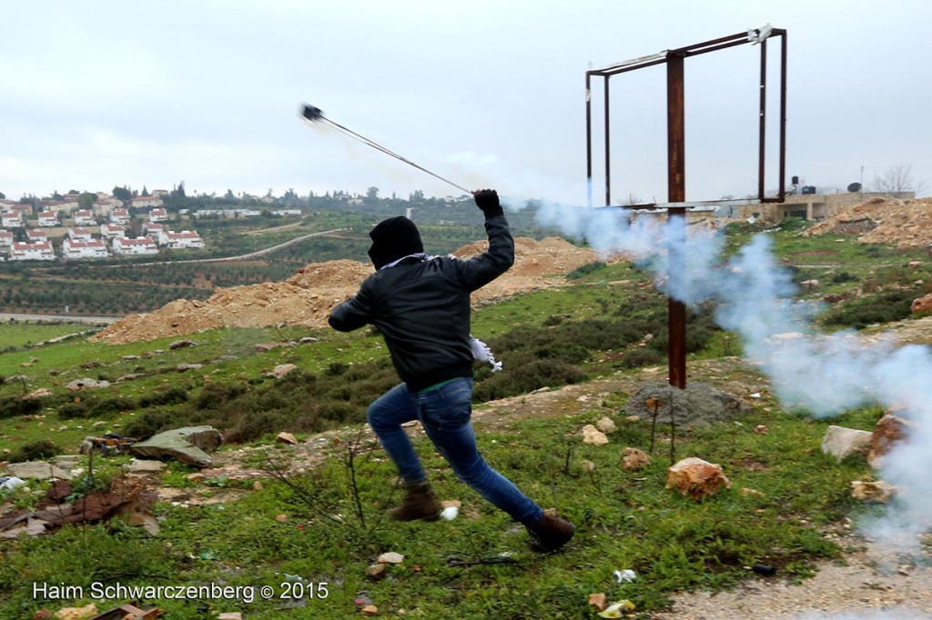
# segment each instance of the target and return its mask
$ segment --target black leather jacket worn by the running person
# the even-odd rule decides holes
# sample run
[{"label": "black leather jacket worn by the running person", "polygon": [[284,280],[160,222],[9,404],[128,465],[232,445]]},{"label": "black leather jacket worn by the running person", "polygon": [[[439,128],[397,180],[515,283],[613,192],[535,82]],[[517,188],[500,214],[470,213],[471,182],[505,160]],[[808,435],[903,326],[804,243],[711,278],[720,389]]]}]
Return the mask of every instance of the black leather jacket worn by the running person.
[{"label": "black leather jacket worn by the running person", "polygon": [[487,217],[486,232],[487,251],[469,260],[408,258],[367,277],[359,292],[334,308],[330,326],[350,331],[375,325],[412,392],[472,377],[470,293],[514,263],[514,238],[504,215]]}]

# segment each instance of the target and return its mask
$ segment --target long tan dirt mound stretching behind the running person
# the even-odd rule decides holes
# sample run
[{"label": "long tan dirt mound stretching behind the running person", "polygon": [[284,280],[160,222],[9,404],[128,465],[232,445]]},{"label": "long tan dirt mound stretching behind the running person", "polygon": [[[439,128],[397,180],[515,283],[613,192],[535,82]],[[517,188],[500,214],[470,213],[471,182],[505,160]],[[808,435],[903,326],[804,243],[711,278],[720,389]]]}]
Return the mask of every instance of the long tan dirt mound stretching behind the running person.
[{"label": "long tan dirt mound stretching behind the running person", "polygon": [[[454,253],[469,258],[485,251],[487,245],[474,243]],[[555,237],[542,241],[518,237],[514,245],[514,267],[473,293],[473,303],[553,286],[562,280],[548,276],[567,274],[596,260],[593,250]],[[223,327],[324,327],[336,303],[348,299],[370,274],[371,265],[356,261],[310,263],[284,282],[218,289],[203,302],[180,299],[153,312],[130,315],[91,340],[126,344]]]}]

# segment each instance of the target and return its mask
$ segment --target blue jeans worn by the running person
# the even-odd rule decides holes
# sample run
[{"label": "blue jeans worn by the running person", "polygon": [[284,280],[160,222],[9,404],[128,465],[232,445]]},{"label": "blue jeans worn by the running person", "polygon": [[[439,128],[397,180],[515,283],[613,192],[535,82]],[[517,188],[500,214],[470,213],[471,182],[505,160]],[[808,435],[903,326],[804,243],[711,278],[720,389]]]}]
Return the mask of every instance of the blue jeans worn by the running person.
[{"label": "blue jeans worn by the running person", "polygon": [[369,406],[369,425],[391,456],[407,484],[427,479],[424,468],[402,425],[419,420],[433,446],[453,467],[457,478],[489,502],[525,525],[543,516],[541,506],[514,483],[492,469],[479,453],[470,418],[473,415],[473,380],[454,379],[423,392],[412,393],[398,384]]}]

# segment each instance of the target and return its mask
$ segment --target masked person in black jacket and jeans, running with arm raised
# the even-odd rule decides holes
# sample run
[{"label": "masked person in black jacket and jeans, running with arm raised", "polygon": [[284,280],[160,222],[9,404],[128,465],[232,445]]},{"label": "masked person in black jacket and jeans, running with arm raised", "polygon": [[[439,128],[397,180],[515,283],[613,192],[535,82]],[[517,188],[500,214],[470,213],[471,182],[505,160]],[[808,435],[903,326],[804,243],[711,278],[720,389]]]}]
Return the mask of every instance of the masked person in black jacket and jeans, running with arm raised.
[{"label": "masked person in black jacket and jeans, running with arm raised", "polygon": [[334,308],[329,322],[340,331],[375,325],[403,382],[377,398],[367,412],[369,425],[404,479],[404,500],[391,511],[391,517],[436,520],[440,516],[440,505],[418,454],[402,428],[418,420],[460,480],[528,528],[531,548],[555,551],[569,542],[575,526],[545,513],[490,467],[476,447],[470,421],[470,293],[514,263],[514,239],[499,195],[495,190],[473,195],[486,216],[485,253],[466,261],[430,258],[414,222],[404,217],[379,222],[369,233],[369,258],[376,273],[363,281],[349,301]]}]

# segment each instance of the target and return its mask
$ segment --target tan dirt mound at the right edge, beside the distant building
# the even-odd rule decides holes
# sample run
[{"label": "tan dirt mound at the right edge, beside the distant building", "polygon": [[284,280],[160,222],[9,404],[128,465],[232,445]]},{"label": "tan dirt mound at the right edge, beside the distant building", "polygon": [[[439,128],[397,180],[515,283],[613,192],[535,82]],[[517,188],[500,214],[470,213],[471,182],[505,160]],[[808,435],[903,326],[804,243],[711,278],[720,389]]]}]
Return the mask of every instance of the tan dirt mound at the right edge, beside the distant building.
[{"label": "tan dirt mound at the right edge, beside the distant building", "polygon": [[817,223],[805,235],[857,235],[861,243],[927,247],[932,244],[932,198],[871,198]]}]

